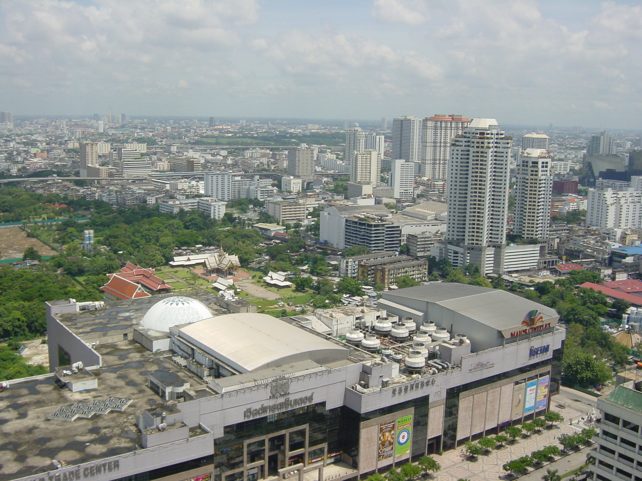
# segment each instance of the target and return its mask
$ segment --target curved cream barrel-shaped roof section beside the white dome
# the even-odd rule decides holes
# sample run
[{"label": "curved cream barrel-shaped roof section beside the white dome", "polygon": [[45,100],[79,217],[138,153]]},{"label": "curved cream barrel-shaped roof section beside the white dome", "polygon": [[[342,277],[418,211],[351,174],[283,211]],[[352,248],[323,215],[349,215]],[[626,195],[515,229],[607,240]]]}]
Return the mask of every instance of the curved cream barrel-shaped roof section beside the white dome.
[{"label": "curved cream barrel-shaped roof section beside the white dome", "polygon": [[241,373],[302,360],[327,364],[349,355],[347,348],[267,314],[226,314],[180,326],[178,333]]}]

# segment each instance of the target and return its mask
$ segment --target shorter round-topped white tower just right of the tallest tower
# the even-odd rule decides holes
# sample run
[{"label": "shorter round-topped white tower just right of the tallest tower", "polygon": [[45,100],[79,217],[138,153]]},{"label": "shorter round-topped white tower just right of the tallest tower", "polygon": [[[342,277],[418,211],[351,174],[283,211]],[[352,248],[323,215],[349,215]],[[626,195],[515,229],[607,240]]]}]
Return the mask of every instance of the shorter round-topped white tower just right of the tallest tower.
[{"label": "shorter round-topped white tower just right of the tallest tower", "polygon": [[522,149],[517,158],[515,223],[513,232],[523,239],[548,239],[553,175],[546,149]]}]

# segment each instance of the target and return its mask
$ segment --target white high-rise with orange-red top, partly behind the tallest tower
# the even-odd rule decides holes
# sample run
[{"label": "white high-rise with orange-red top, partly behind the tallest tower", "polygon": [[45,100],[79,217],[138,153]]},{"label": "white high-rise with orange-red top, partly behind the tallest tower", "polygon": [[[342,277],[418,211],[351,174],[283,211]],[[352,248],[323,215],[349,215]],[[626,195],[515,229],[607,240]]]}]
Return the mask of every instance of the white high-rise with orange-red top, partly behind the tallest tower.
[{"label": "white high-rise with orange-red top, partly behind the tallest tower", "polygon": [[435,114],[421,121],[421,176],[446,179],[450,139],[469,126],[471,119],[462,115]]}]

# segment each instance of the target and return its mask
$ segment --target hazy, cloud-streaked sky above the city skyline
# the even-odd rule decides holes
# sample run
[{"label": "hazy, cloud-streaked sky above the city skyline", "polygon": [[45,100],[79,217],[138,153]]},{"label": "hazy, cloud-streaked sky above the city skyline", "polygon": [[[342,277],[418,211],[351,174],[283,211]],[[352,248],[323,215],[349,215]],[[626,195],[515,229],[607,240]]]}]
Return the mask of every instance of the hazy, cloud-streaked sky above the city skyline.
[{"label": "hazy, cloud-streaked sky above the city skyline", "polygon": [[642,128],[642,2],[1,0],[0,110]]}]

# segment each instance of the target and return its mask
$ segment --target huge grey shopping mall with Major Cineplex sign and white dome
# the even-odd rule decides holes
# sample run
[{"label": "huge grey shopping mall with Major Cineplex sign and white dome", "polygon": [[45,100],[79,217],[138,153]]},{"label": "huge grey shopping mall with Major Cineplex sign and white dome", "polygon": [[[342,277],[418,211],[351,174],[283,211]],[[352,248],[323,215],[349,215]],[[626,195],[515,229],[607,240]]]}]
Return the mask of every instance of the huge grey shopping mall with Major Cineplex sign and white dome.
[{"label": "huge grey shopping mall with Major Cineplex sign and white dome", "polygon": [[[51,378],[6,387],[20,403],[0,414],[17,444],[0,451],[5,479],[363,478],[543,414],[558,391],[557,314],[510,292],[454,283],[384,292],[378,312],[354,316],[356,333],[374,336],[356,352],[309,319],[217,302],[237,313],[205,292],[46,303],[49,366],[62,388]],[[438,334],[426,358],[379,333],[403,317]],[[113,328],[96,330],[99,320]],[[406,362],[368,350],[382,341]],[[73,464],[33,472],[30,459],[61,446]]]}]

